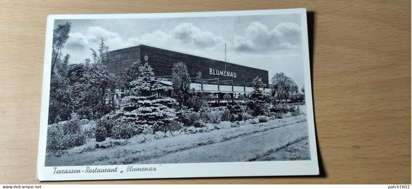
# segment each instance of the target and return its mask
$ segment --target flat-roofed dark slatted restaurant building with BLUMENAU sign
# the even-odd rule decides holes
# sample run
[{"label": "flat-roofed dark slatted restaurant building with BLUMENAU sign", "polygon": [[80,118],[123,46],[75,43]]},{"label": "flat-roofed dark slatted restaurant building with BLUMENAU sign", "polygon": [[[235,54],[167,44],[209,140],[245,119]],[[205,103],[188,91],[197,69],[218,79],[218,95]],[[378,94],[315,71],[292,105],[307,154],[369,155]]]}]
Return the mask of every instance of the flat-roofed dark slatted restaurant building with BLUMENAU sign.
[{"label": "flat-roofed dark slatted restaurant building with BLUMENAU sign", "polygon": [[149,57],[149,65],[159,78],[171,79],[173,65],[180,61],[185,63],[195,89],[199,89],[199,84],[196,84],[194,78],[199,71],[202,72],[204,90],[215,97],[214,103],[217,105],[228,102],[227,99],[223,99],[226,93],[232,97],[229,102],[241,100],[238,98],[240,94],[247,96],[252,90],[252,81],[257,76],[269,87],[269,75],[266,70],[144,45],[110,51],[108,60],[103,64],[111,73],[123,77],[126,69],[134,62],[144,62],[145,55]]}]

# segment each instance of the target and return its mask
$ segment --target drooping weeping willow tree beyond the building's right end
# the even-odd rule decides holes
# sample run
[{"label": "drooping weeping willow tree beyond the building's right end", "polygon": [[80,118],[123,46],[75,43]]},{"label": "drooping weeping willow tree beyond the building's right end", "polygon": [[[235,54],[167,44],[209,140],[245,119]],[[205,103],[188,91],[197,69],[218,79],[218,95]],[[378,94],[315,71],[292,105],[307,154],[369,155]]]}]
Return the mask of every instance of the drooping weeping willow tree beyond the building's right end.
[{"label": "drooping weeping willow tree beyond the building's right end", "polygon": [[287,77],[283,72],[276,73],[272,77],[272,96],[276,100],[286,100],[290,98],[292,93],[297,93],[298,87],[296,83]]}]

